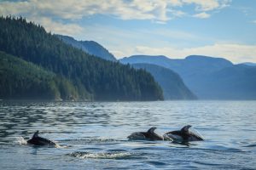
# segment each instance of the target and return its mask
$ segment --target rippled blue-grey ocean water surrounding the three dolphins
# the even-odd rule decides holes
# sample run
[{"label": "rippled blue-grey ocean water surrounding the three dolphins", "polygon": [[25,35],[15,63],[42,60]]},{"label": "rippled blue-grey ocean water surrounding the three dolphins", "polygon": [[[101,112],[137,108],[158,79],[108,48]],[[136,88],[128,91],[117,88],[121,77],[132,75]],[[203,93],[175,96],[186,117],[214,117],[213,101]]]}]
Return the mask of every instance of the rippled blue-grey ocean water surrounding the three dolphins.
[{"label": "rippled blue-grey ocean water surrounding the three dolphins", "polygon": [[[187,124],[206,140],[126,139]],[[20,144],[36,130],[61,147]],[[0,169],[158,168],[256,169],[256,101],[0,103]]]}]

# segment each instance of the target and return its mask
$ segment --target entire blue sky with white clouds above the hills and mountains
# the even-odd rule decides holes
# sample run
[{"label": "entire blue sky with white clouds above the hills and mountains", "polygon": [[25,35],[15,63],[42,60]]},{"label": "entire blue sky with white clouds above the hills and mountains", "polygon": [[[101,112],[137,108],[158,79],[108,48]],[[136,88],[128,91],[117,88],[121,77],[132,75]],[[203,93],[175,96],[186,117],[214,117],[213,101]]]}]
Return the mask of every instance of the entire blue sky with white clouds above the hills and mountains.
[{"label": "entire blue sky with white clouds above the hills and mountains", "polygon": [[118,59],[202,54],[256,63],[256,0],[0,1],[0,14],[94,40]]}]

